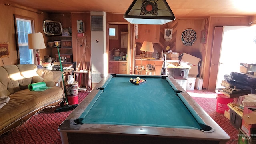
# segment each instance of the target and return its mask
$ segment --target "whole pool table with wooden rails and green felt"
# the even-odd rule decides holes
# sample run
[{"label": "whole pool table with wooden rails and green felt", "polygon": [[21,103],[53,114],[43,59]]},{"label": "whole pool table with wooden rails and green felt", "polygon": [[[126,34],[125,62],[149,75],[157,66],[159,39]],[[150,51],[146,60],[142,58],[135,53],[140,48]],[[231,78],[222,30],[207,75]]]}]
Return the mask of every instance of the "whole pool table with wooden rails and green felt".
[{"label": "whole pool table with wooden rails and green felt", "polygon": [[[144,80],[133,83],[130,79]],[[172,76],[108,74],[58,127],[62,144],[226,144]]]}]

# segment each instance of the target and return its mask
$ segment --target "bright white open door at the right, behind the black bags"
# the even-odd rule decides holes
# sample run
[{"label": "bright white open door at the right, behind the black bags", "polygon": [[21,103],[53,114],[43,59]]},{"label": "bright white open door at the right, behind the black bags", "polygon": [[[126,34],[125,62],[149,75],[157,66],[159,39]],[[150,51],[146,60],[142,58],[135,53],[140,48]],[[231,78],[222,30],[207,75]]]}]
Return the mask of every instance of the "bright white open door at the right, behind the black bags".
[{"label": "bright white open door at the right, behind the black bags", "polygon": [[255,63],[256,30],[246,26],[223,26],[220,63],[216,88],[225,74],[240,72],[240,63]]}]

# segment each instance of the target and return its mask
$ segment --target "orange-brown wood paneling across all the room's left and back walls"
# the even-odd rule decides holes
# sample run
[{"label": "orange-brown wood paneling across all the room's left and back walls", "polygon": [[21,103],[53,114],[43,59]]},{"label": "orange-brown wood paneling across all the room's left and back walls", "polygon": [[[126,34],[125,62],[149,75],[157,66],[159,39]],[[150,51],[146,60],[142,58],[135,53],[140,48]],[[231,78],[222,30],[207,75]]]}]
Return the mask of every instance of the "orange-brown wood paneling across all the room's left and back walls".
[{"label": "orange-brown wood paneling across all the room's left and back walls", "polygon": [[[38,14],[36,12],[40,12],[38,10],[34,10],[32,8],[14,8],[12,6],[6,6],[5,0],[0,2],[0,42],[9,42],[9,51],[10,56],[2,58],[0,60],[0,66],[17,64],[17,50],[16,50],[16,37],[15,37],[15,29],[14,29],[14,14],[28,16],[34,18],[35,20],[35,32],[43,32],[43,21],[48,18],[53,18],[54,20],[60,19],[62,21],[66,17],[70,17],[70,20],[63,21],[62,24],[65,27],[69,27],[71,24],[72,27],[72,42],[73,42],[73,59],[79,59],[82,56],[82,48],[77,47],[77,28],[76,21],[83,20],[85,22],[85,32],[86,32],[86,61],[90,62],[90,12],[84,13],[72,13],[71,15],[55,15],[48,14],[43,12],[42,14]],[[13,4],[15,5],[15,4]],[[26,10],[27,9],[27,10]],[[32,12],[32,11],[35,12]],[[67,18],[68,19],[68,18]],[[123,18],[123,14],[106,14],[107,22],[123,22],[126,20]],[[174,20],[171,23],[164,24],[160,26],[160,42],[158,44],[154,44],[154,48],[160,54],[162,49],[166,50],[166,46],[170,46],[172,51],[183,53],[186,52],[188,54],[192,54],[198,58],[201,58],[204,62],[202,75],[204,78],[203,88],[208,89],[209,83],[209,71],[210,71],[210,61],[212,56],[212,44],[213,44],[213,35],[214,35],[214,27],[215,26],[224,26],[224,25],[232,25],[232,26],[249,26],[248,23],[256,20],[256,16],[253,17],[210,17],[204,19],[182,19],[182,20]],[[256,22],[252,23],[255,24]],[[164,41],[164,28],[173,28],[173,37],[170,42]],[[192,46],[184,46],[181,41],[181,33],[187,29],[192,28],[197,32],[197,40]],[[207,42],[206,44],[200,43],[201,31],[208,30]],[[45,38],[45,37],[44,37]],[[46,38],[45,38],[45,42]],[[141,44],[137,44],[140,46]],[[136,50],[140,54],[139,48]],[[48,49],[40,50],[41,55],[50,54]]]}]

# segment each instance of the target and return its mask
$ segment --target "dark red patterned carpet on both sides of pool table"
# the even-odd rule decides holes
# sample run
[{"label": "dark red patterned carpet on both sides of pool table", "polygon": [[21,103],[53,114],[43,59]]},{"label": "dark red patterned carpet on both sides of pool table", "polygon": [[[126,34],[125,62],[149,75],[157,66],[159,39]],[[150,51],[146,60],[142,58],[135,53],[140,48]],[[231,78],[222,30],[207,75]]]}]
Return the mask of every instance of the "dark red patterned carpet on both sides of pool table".
[{"label": "dark red patterned carpet on both sides of pool table", "polygon": [[[216,93],[203,90],[187,91],[190,96],[223,128],[231,140],[227,144],[237,144],[238,130],[223,114],[216,112]],[[79,103],[88,92],[79,92]],[[215,96],[215,97],[214,97]],[[61,144],[58,126],[72,112],[54,112],[46,109],[33,116],[22,126],[0,136],[0,144]]]}]

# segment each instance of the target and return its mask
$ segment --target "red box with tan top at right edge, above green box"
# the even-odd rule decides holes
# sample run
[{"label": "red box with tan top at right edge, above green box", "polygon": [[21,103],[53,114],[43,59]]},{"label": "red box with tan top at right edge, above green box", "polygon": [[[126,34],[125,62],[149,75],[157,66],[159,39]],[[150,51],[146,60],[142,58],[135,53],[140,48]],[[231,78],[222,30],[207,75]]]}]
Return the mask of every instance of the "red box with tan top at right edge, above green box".
[{"label": "red box with tan top at right edge, above green box", "polygon": [[[242,116],[241,129],[244,133],[248,134],[248,136],[256,134],[256,112],[251,112]],[[253,134],[252,132],[255,133]]]}]

